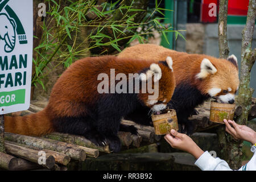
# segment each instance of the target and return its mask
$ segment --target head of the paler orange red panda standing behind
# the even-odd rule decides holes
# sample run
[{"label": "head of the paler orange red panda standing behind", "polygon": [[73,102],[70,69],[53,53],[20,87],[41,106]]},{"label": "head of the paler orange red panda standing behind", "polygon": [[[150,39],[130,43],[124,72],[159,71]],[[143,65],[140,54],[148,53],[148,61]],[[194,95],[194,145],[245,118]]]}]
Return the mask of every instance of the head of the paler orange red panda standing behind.
[{"label": "head of the paler orange red panda standing behind", "polygon": [[231,55],[228,60],[207,56],[201,61],[196,78],[201,80],[200,87],[204,93],[218,102],[233,104],[239,85],[236,56]]}]

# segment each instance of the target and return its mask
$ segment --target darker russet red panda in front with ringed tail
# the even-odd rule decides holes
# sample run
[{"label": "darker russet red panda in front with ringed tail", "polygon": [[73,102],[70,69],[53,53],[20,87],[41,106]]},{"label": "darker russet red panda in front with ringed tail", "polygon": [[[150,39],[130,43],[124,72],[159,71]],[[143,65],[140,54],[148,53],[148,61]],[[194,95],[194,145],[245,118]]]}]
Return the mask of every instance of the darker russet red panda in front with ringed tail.
[{"label": "darker russet red panda in front with ringed tail", "polygon": [[[127,84],[136,79],[146,83],[150,79],[154,80],[152,88],[156,88],[158,83],[158,97],[148,100],[152,94],[141,92],[141,86],[139,93],[111,92],[111,88],[106,89],[105,93],[99,93],[98,86],[102,82],[99,75],[103,73],[110,77],[107,84],[111,84],[112,69],[115,71],[114,79],[119,73],[125,76],[137,73],[132,80],[126,81]],[[114,83],[117,81],[114,80]],[[124,85],[121,87],[126,89]],[[84,135],[100,146],[109,143],[110,150],[118,152],[121,143],[117,133],[119,127],[124,129],[119,126],[121,118],[141,106],[156,112],[165,109],[174,88],[175,78],[170,57],[166,61],[139,61],[116,56],[88,57],[73,63],[59,77],[52,88],[46,108],[23,117],[5,116],[5,130],[32,136],[53,131]]]}]

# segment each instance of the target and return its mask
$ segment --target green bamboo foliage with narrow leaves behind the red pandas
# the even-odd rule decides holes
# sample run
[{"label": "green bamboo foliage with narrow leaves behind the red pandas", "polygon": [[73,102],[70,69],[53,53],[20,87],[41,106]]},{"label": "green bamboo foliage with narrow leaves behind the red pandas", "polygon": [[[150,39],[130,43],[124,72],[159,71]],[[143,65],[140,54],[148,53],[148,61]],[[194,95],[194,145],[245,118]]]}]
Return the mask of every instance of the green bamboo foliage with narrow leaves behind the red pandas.
[{"label": "green bamboo foliage with narrow leaves behind the red pandas", "polygon": [[[97,47],[110,46],[120,52],[118,43],[123,39],[128,39],[128,43],[135,39],[145,43],[154,32],[165,35],[165,32],[172,31],[170,27],[166,28],[160,23],[161,18],[154,16],[156,12],[163,14],[165,10],[158,7],[157,3],[155,9],[148,10],[141,23],[135,23],[134,19],[138,12],[145,10],[134,9],[134,1],[131,1],[131,5],[125,5],[123,1],[105,2],[101,5],[102,9],[98,9],[96,0],[68,0],[64,7],[61,6],[61,3],[64,3],[61,0],[59,3],[46,0],[46,3],[48,11],[42,26],[42,38],[39,46],[34,49],[35,71],[32,75],[32,85],[39,83],[43,88],[42,78],[47,75],[44,72],[46,68],[52,71],[60,64],[67,68],[78,57],[90,56],[89,51]],[[120,12],[122,17],[113,19],[114,14]],[[96,15],[96,18],[89,19],[89,14]],[[141,30],[137,31],[139,28]],[[104,29],[112,32],[113,36],[104,34]],[[83,30],[86,30],[87,34],[82,42],[78,42],[78,36]],[[84,48],[84,44],[88,47]],[[100,54],[103,53],[104,51]],[[55,67],[49,67],[53,61],[57,63]]]}]

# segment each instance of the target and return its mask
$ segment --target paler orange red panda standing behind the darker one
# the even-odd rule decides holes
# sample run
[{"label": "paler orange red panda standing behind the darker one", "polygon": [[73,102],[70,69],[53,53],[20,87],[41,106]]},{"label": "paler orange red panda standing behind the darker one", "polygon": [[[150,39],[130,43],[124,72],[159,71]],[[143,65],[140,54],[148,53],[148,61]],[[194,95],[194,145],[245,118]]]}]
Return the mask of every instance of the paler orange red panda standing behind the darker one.
[{"label": "paler orange red panda standing behind the darker one", "polygon": [[[239,85],[237,58],[234,55],[229,56],[228,60],[217,59],[207,55],[177,52],[154,44],[128,47],[118,55],[144,60],[161,60],[166,56],[171,56],[174,61],[176,81],[174,95],[168,106],[176,110],[179,124],[184,126],[181,127],[181,132],[192,133],[193,125],[189,124],[188,117],[197,105],[203,104],[210,97],[233,104]],[[139,113],[131,113],[126,119],[136,120],[138,117]]]}]

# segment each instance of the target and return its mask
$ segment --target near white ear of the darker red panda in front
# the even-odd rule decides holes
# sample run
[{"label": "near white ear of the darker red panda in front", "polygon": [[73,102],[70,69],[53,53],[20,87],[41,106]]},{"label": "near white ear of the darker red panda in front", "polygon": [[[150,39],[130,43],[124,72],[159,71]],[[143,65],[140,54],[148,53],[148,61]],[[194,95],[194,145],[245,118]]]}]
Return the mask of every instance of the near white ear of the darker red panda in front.
[{"label": "near white ear of the darker red panda in front", "polygon": [[158,64],[152,63],[146,73],[139,75],[140,80],[146,81],[154,76],[154,82],[159,81],[162,77],[162,70]]}]

